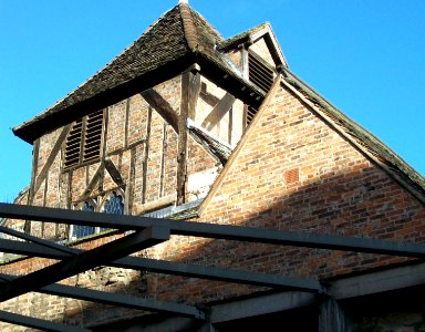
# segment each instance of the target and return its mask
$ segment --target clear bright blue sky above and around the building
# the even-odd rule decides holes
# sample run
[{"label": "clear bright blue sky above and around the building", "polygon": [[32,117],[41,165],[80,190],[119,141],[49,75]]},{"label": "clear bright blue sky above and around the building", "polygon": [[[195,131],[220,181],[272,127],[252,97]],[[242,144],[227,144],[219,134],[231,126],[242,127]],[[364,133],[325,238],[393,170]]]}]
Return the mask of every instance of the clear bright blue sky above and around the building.
[{"label": "clear bright blue sky above and around the building", "polygon": [[[177,0],[0,0],[0,201],[30,183],[11,128],[74,90]],[[269,21],[290,69],[425,174],[425,1],[189,0],[224,37]]]}]

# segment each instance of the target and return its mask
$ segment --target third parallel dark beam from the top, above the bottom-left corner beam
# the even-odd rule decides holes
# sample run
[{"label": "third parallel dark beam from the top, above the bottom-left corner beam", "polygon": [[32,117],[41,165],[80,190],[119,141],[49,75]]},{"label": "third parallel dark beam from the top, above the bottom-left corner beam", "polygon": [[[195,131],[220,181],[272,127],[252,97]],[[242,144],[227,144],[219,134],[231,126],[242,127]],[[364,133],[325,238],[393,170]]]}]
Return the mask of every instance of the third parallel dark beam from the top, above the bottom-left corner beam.
[{"label": "third parallel dark beam from the top, above the bottom-left corner beam", "polygon": [[[0,274],[0,279],[14,280],[17,277]],[[117,293],[108,293],[104,291],[97,291],[92,289],[85,289],[80,287],[71,287],[61,283],[49,284],[38,292],[66,297],[72,299],[79,299],[84,301],[97,302],[103,304],[118,305],[138,310],[173,313],[184,317],[191,317],[199,320],[205,320],[205,313],[193,305],[155,301],[148,299],[141,299],[132,295],[124,295]]]}]

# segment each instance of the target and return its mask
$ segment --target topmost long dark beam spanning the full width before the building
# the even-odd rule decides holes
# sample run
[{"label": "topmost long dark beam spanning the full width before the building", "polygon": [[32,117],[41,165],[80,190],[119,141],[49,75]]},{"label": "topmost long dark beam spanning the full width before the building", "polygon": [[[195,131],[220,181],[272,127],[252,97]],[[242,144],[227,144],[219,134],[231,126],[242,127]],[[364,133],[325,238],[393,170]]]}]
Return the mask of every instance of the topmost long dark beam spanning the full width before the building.
[{"label": "topmost long dark beam spanning the full width before the building", "polygon": [[163,225],[169,227],[173,235],[425,258],[425,245],[418,243],[188,222],[151,217],[116,216],[11,204],[0,204],[0,217],[116,229],[143,229],[153,225]]}]

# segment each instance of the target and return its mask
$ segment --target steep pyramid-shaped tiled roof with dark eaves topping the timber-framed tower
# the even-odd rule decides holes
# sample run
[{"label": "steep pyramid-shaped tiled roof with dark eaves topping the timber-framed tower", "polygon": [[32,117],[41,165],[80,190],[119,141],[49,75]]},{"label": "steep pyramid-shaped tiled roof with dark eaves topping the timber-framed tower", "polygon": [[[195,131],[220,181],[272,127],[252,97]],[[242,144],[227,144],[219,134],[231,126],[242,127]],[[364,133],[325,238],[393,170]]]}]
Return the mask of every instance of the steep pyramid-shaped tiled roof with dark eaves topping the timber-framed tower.
[{"label": "steep pyramid-shaped tiled roof with dark eaves topping the timber-framed tower", "polygon": [[[203,60],[204,63],[214,63],[249,87],[256,98],[262,98],[261,92],[242,77],[227,55],[216,50],[217,43],[222,40],[200,14],[188,4],[180,3],[159,18],[104,69],[43,113],[13,128],[13,132],[32,143],[48,131],[152,87],[160,83],[159,80],[170,79],[191,63]],[[250,95],[248,92],[243,94]]]}]

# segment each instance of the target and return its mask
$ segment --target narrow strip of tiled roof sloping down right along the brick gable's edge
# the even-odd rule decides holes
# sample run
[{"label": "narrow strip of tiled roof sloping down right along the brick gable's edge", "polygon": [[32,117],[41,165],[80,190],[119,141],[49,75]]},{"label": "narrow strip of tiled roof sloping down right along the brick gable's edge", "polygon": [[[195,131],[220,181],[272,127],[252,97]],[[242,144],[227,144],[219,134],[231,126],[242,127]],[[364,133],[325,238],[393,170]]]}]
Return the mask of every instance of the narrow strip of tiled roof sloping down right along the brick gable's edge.
[{"label": "narrow strip of tiled roof sloping down right along the brick gable's edge", "polygon": [[350,142],[425,204],[425,178],[377,137],[349,118],[288,69],[282,83],[303,97],[321,116],[330,121]]}]

